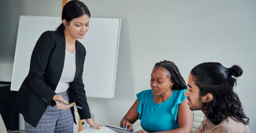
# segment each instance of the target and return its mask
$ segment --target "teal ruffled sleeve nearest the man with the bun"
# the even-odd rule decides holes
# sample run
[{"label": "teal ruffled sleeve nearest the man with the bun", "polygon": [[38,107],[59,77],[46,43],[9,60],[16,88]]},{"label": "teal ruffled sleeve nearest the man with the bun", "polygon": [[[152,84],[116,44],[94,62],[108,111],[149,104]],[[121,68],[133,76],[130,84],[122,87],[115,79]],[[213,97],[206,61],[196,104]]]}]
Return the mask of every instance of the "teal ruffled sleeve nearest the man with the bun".
[{"label": "teal ruffled sleeve nearest the man with the bun", "polygon": [[[179,108],[179,104],[182,103],[186,98],[187,96],[184,96],[184,93],[186,92],[187,89],[183,89],[183,90],[175,90],[175,100],[174,100],[174,104],[173,104],[173,107],[172,107],[172,116],[176,122],[176,124],[178,125],[177,123],[177,115],[178,115],[178,108]],[[138,110],[138,109],[137,109]]]}]

